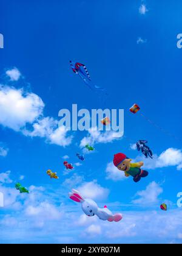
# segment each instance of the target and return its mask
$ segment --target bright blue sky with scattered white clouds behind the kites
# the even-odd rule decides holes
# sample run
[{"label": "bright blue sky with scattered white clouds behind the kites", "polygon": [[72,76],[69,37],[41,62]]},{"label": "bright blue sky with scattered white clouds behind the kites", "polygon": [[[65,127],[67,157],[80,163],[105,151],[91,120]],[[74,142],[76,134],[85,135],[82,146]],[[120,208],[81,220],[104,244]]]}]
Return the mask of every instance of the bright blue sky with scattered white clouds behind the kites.
[{"label": "bright blue sky with scattered white clouds behind the kites", "polygon": [[[1,5],[1,243],[181,243],[181,141],[140,115],[182,138],[181,1],[7,0]],[[106,88],[105,104],[72,73],[69,60],[84,63],[96,84]],[[134,103],[141,107],[136,115],[129,112]],[[93,134],[58,130],[59,110],[72,104],[124,109],[124,135],[133,142],[148,140],[154,159],[143,158],[126,138],[109,140],[105,132],[79,165],[75,154]],[[138,183],[123,177],[112,164],[118,152],[144,160],[149,176]],[[69,173],[62,165],[66,155],[75,165]],[[49,168],[58,180],[50,180]],[[18,181],[30,194],[19,195]],[[121,212],[123,220],[85,216],[67,196],[71,188]],[[160,210],[163,202],[167,212]]]}]

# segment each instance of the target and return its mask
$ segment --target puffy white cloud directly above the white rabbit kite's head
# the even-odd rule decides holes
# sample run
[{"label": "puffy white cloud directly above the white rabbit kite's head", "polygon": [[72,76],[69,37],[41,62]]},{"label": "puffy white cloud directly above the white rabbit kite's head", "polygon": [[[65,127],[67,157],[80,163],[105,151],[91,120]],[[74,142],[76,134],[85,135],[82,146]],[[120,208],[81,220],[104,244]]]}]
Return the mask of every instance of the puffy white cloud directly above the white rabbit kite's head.
[{"label": "puffy white cloud directly above the white rabbit kite's head", "polygon": [[84,182],[83,185],[76,188],[76,190],[83,194],[84,198],[96,199],[96,201],[106,199],[109,194],[109,190],[101,187],[96,180]]}]

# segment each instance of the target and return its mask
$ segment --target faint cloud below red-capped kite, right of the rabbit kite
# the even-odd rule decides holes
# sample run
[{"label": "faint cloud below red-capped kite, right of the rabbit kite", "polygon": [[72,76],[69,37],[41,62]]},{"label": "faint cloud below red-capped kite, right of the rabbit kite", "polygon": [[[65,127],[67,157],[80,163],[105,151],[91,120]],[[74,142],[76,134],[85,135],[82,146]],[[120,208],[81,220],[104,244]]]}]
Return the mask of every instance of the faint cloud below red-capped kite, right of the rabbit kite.
[{"label": "faint cloud below red-capped kite, right of the rabbit kite", "polygon": [[138,199],[133,200],[133,204],[150,205],[158,202],[158,196],[163,193],[163,188],[156,182],[151,182],[146,187],[146,190],[138,191],[135,197]]}]

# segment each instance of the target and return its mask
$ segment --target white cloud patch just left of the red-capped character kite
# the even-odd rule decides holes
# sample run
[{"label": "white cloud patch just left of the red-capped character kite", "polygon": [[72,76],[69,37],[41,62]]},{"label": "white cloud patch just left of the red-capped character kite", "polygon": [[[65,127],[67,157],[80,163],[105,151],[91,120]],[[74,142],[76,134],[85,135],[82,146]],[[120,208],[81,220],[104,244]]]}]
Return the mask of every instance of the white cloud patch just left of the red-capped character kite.
[{"label": "white cloud patch just left of the red-capped character kite", "polygon": [[119,171],[113,162],[107,163],[106,179],[117,181],[125,179],[124,171]]}]

